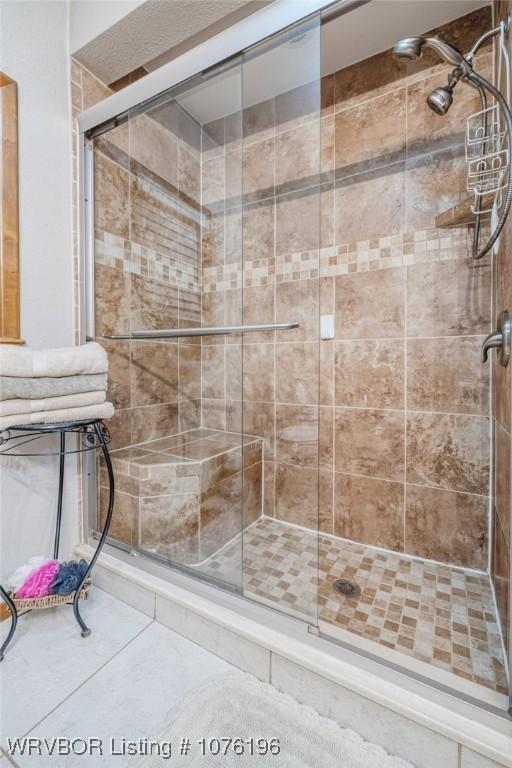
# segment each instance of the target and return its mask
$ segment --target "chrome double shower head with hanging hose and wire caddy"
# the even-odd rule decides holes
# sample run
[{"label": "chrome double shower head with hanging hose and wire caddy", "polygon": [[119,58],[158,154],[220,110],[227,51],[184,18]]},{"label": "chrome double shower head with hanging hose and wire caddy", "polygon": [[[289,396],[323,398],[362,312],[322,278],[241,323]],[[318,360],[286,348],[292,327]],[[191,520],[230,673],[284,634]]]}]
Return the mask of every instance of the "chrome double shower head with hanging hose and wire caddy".
[{"label": "chrome double shower head with hanging hose and wire caddy", "polygon": [[[483,139],[480,142],[480,150],[482,158],[476,158],[476,167],[480,169],[478,173],[482,177],[482,184],[474,183],[473,187],[475,194],[475,205],[473,211],[475,213],[475,229],[473,234],[473,258],[481,259],[485,256],[495,242],[497,241],[500,233],[505,225],[505,221],[510,212],[512,205],[512,163],[510,162],[510,151],[512,148],[512,114],[510,112],[507,100],[503,94],[492,83],[482,77],[478,72],[475,72],[473,68],[473,59],[477,51],[481,46],[489,39],[498,34],[508,34],[509,20],[503,22],[500,26],[485,32],[478,38],[471,50],[463,55],[458,48],[451,43],[447,43],[446,40],[442,40],[439,37],[405,37],[395,44],[393,48],[393,56],[399,61],[416,61],[422,55],[424,48],[431,48],[438,56],[452,65],[454,69],[448,77],[448,83],[446,86],[441,86],[432,91],[427,97],[427,104],[430,109],[438,115],[446,115],[453,103],[453,90],[459,81],[465,82],[476,88],[480,94],[480,100],[482,104],[482,132]],[[508,147],[505,151],[501,149],[501,152],[493,152],[492,147],[489,148],[487,142],[488,124],[487,124],[487,93],[489,93],[496,104],[499,105],[499,109],[505,122],[506,134],[508,137]],[[505,156],[506,162],[503,162],[498,171],[495,171],[495,155],[500,156],[500,163]],[[490,158],[490,165],[486,165],[486,160]],[[475,166],[475,159],[473,159],[473,166]],[[490,169],[490,170],[489,170]],[[491,174],[491,176],[489,175]],[[505,179],[506,174],[506,181]],[[492,177],[492,178],[491,178]],[[491,233],[489,239],[485,245],[480,245],[480,225],[481,216],[484,211],[482,210],[482,198],[485,189],[485,184],[489,185],[489,178],[493,182],[493,192],[499,195],[501,200],[501,212],[498,217],[498,221]],[[478,180],[477,180],[478,181]],[[502,187],[504,188],[502,190]],[[502,194],[503,192],[503,194]]]}]

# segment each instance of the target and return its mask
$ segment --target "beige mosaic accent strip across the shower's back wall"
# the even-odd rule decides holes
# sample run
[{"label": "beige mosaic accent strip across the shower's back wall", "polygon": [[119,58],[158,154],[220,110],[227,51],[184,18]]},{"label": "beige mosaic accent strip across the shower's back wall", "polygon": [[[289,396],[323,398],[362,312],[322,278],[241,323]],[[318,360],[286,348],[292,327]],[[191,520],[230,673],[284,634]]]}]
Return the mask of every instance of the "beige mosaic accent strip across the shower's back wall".
[{"label": "beige mosaic accent strip across the shower's back wall", "polygon": [[[485,233],[483,235],[485,237]],[[368,272],[390,267],[409,266],[426,261],[466,258],[470,248],[467,227],[449,231],[432,229],[343,243],[320,250],[285,253],[276,259],[259,259],[243,263],[244,286],[335,277],[352,272]],[[203,292],[240,288],[240,263],[203,269]]]}]

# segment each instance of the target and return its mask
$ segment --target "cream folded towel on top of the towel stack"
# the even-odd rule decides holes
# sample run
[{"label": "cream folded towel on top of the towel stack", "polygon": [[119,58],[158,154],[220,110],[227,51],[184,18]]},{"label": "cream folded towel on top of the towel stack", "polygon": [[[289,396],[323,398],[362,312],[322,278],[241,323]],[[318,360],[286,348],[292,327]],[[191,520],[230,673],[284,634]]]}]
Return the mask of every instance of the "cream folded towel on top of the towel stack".
[{"label": "cream folded towel on top of the towel stack", "polygon": [[61,349],[0,346],[2,376],[75,376],[106,373],[107,370],[107,353],[96,342]]}]

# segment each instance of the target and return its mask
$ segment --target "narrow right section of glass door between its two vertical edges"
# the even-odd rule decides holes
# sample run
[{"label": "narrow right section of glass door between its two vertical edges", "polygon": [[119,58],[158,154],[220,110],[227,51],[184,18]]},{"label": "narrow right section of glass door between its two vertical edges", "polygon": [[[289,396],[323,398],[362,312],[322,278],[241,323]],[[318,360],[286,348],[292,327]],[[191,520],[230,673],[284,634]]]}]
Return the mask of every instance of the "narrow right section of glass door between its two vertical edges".
[{"label": "narrow right section of glass door between its two vertical edges", "polygon": [[[243,56],[244,594],[316,623],[319,519],[320,19]],[[258,445],[259,450],[259,445]],[[256,459],[259,458],[256,453]],[[261,481],[260,481],[261,474]],[[253,514],[262,483],[261,515]],[[257,498],[260,503],[259,497]]]}]

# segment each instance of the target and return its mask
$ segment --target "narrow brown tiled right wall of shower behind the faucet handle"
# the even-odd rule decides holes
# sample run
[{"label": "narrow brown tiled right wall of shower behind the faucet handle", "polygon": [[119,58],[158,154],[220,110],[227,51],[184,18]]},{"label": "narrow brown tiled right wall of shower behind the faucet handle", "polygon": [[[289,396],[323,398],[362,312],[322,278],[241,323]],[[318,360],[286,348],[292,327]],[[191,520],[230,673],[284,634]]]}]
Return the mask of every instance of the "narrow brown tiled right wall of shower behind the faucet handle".
[{"label": "narrow brown tiled right wall of shower behind the faucet handle", "polygon": [[[506,19],[512,13],[512,3],[501,0],[494,4],[495,23]],[[510,41],[509,41],[510,49]],[[496,69],[495,69],[496,74]],[[512,310],[512,220],[509,218],[504,233],[500,238],[500,247],[493,264],[494,318],[504,309]],[[512,611],[511,611],[511,571],[512,571],[512,500],[511,500],[511,366],[502,368],[492,355],[493,388],[493,549],[491,573],[496,593],[496,602],[501,618],[501,626],[506,647],[512,653]],[[512,658],[512,656],[511,656]]]}]

